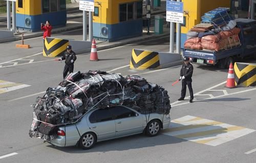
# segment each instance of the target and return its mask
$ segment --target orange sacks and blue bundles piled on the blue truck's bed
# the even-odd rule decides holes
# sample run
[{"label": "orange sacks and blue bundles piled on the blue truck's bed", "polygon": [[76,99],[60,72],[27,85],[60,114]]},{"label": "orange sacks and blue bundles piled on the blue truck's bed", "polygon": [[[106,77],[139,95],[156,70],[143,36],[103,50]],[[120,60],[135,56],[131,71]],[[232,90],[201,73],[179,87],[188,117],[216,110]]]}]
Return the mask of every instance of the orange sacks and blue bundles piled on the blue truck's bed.
[{"label": "orange sacks and blue bundles piled on the blue truck's bed", "polygon": [[184,47],[215,51],[234,48],[241,45],[240,31],[236,20],[228,15],[228,9],[218,8],[205,13],[201,23],[188,32]]}]

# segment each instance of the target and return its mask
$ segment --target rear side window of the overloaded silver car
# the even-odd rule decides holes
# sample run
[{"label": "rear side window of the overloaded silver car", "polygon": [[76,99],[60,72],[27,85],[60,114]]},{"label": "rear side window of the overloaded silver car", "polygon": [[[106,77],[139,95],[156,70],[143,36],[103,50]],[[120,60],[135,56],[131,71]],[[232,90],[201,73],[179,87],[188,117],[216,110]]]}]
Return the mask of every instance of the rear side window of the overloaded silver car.
[{"label": "rear side window of the overloaded silver car", "polygon": [[104,122],[110,120],[113,120],[113,118],[108,108],[101,108],[99,110],[96,110],[89,117],[89,121],[91,123]]}]

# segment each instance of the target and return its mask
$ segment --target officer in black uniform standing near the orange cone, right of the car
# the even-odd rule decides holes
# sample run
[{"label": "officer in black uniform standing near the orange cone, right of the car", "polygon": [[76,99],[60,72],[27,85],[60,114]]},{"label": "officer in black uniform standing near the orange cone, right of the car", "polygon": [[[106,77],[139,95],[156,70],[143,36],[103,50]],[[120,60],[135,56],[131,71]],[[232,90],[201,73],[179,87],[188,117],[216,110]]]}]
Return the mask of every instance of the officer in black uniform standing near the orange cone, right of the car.
[{"label": "officer in black uniform standing near the orange cone, right of the car", "polygon": [[[193,102],[194,94],[192,89],[192,74],[193,74],[193,66],[189,63],[189,58],[184,57],[184,65],[180,70],[180,79],[182,80],[182,88],[181,88],[181,97],[178,99],[179,101],[184,100],[186,95],[186,89],[188,87],[190,100],[189,102]],[[187,86],[187,87],[186,87]]]}]

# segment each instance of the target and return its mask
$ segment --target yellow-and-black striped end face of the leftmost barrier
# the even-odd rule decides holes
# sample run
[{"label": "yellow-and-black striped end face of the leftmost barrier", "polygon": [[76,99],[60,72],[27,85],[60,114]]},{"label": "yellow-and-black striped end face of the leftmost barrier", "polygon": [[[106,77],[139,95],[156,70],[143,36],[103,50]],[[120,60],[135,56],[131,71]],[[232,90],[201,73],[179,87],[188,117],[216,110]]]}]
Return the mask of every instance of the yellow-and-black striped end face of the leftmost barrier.
[{"label": "yellow-and-black striped end face of the leftmost barrier", "polygon": [[67,46],[69,45],[69,40],[57,39],[47,37],[44,42],[44,49],[42,55],[44,57],[58,57],[65,52]]}]

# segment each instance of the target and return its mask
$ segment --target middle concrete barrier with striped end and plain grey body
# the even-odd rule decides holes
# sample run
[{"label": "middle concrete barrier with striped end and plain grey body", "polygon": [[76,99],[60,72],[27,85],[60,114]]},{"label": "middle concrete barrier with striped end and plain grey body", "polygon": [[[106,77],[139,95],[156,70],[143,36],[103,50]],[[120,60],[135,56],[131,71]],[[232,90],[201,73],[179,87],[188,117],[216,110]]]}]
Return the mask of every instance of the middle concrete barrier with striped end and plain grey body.
[{"label": "middle concrete barrier with striped end and plain grey body", "polygon": [[160,69],[182,63],[178,53],[159,52],[154,50],[133,49],[130,69]]}]

